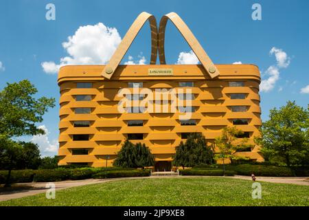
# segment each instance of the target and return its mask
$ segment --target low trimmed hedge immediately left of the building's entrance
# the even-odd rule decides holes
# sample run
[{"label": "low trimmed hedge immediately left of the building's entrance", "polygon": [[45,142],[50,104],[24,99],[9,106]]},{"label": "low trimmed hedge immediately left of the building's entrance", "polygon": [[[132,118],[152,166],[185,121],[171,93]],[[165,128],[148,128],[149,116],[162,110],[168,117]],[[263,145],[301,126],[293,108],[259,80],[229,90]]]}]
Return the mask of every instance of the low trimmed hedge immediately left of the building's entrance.
[{"label": "low trimmed hedge immediately left of the building's entrance", "polygon": [[119,177],[147,177],[150,170],[108,170],[94,174],[94,179],[119,178]]}]

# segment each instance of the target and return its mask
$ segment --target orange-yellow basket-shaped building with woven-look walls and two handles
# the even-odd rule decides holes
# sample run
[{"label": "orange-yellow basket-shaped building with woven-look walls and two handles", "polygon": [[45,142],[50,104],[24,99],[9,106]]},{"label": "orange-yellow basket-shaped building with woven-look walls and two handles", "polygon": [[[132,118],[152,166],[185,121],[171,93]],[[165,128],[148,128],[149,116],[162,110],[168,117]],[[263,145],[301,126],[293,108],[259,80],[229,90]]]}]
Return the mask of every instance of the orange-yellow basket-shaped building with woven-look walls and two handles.
[{"label": "orange-yellow basket-shaped building with woven-look walls and two handles", "polygon": [[[144,20],[151,19],[146,16]],[[176,21],[172,22],[177,27]],[[165,31],[164,23],[163,18],[160,27]],[[253,142],[261,126],[258,67],[213,65],[199,54],[201,48],[194,48],[187,39],[201,65],[166,65],[158,43],[160,27],[159,33],[152,34],[152,46],[157,47],[152,47],[156,54],[152,53],[151,65],[119,65],[132,43],[127,43],[132,35],[129,30],[123,39],[126,44],[119,45],[108,65],[60,68],[59,165],[113,166],[128,138],[150,148],[155,155],[155,170],[170,170],[175,147],[185,142],[187,135],[203,133],[214,146],[214,139],[225,126],[244,131],[239,140],[248,137],[254,146],[238,155],[263,161],[259,146]],[[161,65],[154,64],[157,50]],[[108,77],[104,77],[106,74]],[[184,118],[185,114],[189,116]]]}]

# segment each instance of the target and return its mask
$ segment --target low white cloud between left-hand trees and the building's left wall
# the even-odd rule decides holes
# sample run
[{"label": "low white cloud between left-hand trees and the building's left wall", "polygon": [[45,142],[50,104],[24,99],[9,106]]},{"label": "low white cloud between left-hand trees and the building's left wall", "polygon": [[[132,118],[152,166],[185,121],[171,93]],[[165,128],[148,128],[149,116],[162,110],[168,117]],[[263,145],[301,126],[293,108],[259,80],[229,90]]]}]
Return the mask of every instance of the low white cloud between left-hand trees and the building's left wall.
[{"label": "low white cloud between left-hand trees and the building's left wall", "polygon": [[45,131],[45,135],[34,135],[30,140],[34,144],[38,144],[38,148],[40,149],[41,155],[49,156],[56,155],[58,151],[58,140],[49,140],[48,135],[49,131],[45,124],[38,126],[39,129],[43,129]]}]

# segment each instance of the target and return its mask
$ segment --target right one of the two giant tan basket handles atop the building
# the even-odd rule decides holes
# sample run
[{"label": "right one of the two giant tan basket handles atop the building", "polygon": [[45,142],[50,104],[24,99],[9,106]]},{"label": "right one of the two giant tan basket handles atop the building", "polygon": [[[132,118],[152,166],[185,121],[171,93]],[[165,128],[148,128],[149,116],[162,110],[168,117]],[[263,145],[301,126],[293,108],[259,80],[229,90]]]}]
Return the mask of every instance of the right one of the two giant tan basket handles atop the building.
[{"label": "right one of the two giant tan basket handles atop the building", "polygon": [[168,23],[168,19],[174,23],[176,28],[181,32],[183,38],[190,45],[194,54],[196,54],[198,60],[201,62],[206,72],[209,74],[210,78],[215,78],[220,74],[217,67],[212,63],[209,56],[206,54],[205,50],[198,43],[198,40],[195,38],[194,34],[192,34],[191,30],[187,27],[185,22],[179,17],[175,12],[170,12],[169,14],[165,14],[160,21],[159,24],[159,59],[160,64],[165,64],[165,52],[164,52],[164,39],[165,39],[165,28]]}]

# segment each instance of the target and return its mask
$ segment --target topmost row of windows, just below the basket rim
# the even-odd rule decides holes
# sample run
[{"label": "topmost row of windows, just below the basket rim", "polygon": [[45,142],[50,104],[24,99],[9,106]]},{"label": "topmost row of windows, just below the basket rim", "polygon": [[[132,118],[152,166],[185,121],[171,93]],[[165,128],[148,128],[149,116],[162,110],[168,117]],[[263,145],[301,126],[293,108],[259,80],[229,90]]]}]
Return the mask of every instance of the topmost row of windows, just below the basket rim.
[{"label": "topmost row of windows, just below the basket rim", "polygon": [[[92,88],[92,83],[76,83],[77,88]],[[128,83],[129,88],[142,88],[144,83],[141,82],[130,82]],[[179,82],[179,87],[194,87],[193,82]],[[229,87],[244,87],[243,81],[231,81],[229,82]]]}]

